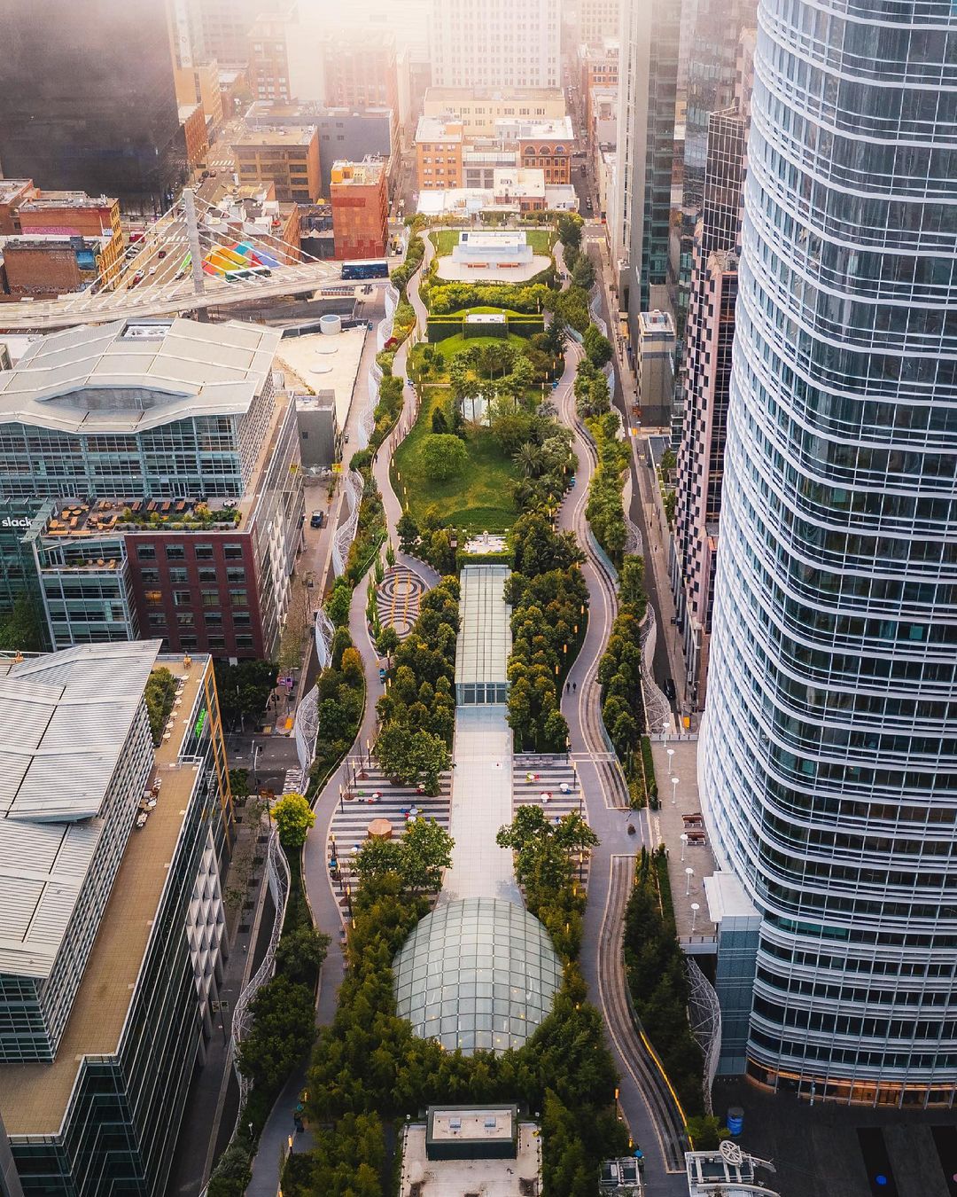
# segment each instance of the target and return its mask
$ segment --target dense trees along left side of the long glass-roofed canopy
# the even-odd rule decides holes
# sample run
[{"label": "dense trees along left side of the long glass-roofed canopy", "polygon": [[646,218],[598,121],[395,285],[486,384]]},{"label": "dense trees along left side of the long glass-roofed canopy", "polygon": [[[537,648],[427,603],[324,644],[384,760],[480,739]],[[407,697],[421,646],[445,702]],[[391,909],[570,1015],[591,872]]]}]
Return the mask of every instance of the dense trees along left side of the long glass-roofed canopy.
[{"label": "dense trees along left side of the long glass-roofed canopy", "polygon": [[406,785],[437,794],[451,766],[458,581],[445,577],[422,596],[419,618],[392,655],[389,686],[378,701],[376,758]]}]

